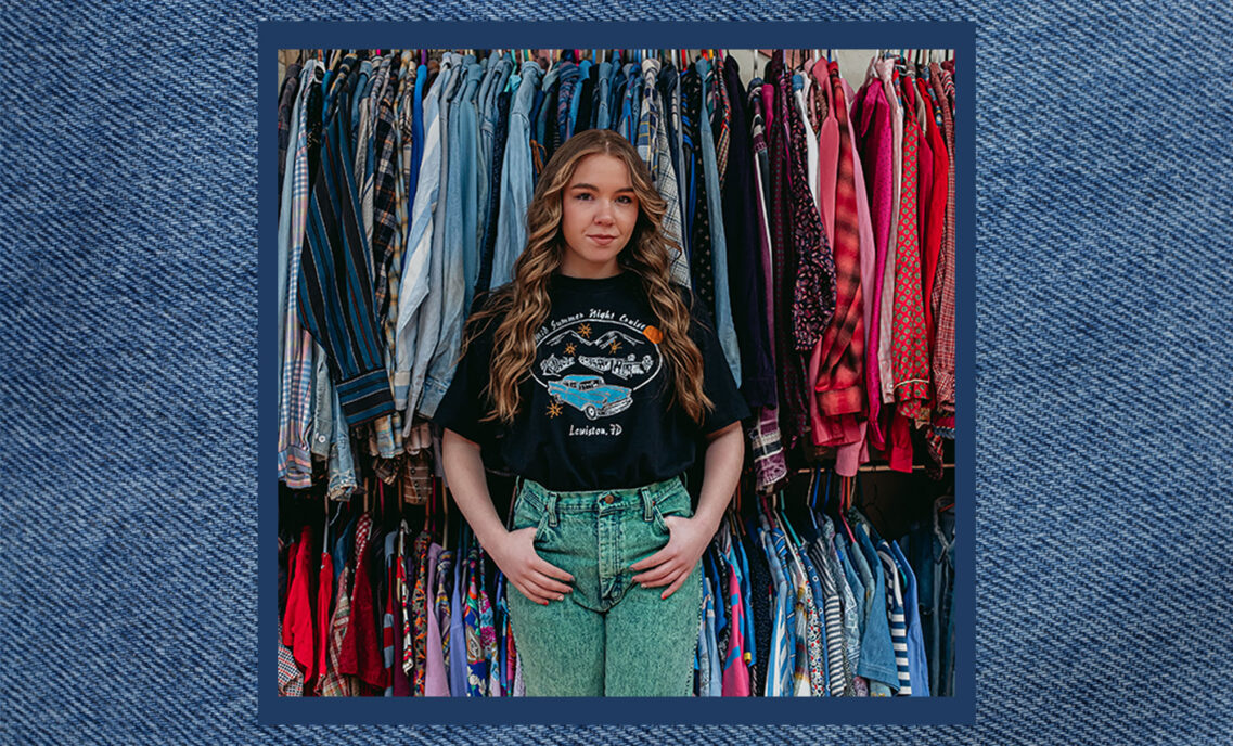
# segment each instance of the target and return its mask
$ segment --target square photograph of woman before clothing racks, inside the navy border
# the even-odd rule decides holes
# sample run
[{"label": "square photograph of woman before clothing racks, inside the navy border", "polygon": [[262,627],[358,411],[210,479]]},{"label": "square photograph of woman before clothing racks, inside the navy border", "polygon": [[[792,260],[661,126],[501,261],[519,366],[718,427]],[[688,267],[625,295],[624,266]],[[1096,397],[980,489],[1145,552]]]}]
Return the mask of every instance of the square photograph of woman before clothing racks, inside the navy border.
[{"label": "square photograph of woman before clothing racks, inside the navy border", "polygon": [[275,52],[263,698],[954,697],[954,48]]}]

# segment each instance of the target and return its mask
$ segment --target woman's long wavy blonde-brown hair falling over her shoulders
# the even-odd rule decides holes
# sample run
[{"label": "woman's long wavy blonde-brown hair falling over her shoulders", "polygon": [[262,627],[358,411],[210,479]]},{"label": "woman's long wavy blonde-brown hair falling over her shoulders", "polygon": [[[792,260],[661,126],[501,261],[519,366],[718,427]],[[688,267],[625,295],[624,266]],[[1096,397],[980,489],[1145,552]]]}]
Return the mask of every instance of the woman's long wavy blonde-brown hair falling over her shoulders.
[{"label": "woman's long wavy blonde-brown hair falling over her shoulders", "polygon": [[[462,350],[499,318],[494,333],[492,366],[485,390],[492,409],[483,422],[510,424],[522,407],[519,386],[530,377],[535,363],[535,332],[549,317],[549,284],[561,266],[565,240],[561,215],[565,187],[578,163],[594,154],[612,155],[629,169],[639,215],[634,233],[616,255],[618,264],[639,276],[651,312],[663,332],[660,350],[668,361],[672,402],[702,424],[714,403],[703,392],[703,361],[689,338],[689,308],[672,286],[670,250],[679,245],[665,236],[662,221],[667,202],[651,182],[651,174],[637,150],[610,129],[587,129],[571,137],[544,166],[526,210],[526,248],[514,263],[514,279],[492,291],[482,307],[467,319]],[[692,293],[689,293],[692,298]]]}]

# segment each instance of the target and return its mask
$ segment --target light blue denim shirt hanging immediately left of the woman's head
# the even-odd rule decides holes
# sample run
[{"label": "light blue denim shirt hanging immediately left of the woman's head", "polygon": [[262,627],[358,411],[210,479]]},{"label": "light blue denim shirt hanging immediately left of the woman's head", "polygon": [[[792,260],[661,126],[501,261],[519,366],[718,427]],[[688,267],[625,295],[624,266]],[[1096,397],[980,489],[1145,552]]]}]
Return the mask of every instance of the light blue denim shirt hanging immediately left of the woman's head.
[{"label": "light blue denim shirt hanging immediately left of the woman's head", "polygon": [[539,86],[539,65],[534,62],[523,63],[518,91],[509,110],[506,162],[501,166],[501,217],[497,223],[497,245],[492,255],[491,287],[501,287],[513,279],[514,260],[526,245],[526,207],[535,189],[529,117]]}]

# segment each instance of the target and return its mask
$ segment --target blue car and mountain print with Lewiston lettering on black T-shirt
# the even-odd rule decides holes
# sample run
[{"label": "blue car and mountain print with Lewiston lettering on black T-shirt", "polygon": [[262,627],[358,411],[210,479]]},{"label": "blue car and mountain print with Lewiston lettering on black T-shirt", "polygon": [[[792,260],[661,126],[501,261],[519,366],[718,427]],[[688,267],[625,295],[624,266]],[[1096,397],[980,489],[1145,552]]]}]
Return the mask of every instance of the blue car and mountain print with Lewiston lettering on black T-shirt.
[{"label": "blue car and mountain print with Lewiston lettering on black T-shirt", "polygon": [[[663,369],[657,327],[624,313],[592,308],[552,319],[535,333],[531,376],[547,391],[549,419],[581,413],[588,422],[612,417],[634,403],[637,391]],[[571,437],[620,435],[618,423],[570,424]]]}]

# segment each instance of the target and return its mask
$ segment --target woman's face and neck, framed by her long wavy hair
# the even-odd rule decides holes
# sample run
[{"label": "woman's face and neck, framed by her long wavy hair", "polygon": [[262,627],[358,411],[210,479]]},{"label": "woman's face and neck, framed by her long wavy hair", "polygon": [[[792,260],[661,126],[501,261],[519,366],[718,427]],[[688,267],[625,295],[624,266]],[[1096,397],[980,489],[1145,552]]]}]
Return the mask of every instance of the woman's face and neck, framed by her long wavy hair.
[{"label": "woman's face and neck, framed by her long wavy hair", "polygon": [[587,155],[578,162],[561,199],[566,244],[561,273],[573,277],[618,274],[616,255],[633,237],[639,211],[625,163],[603,153]]}]

